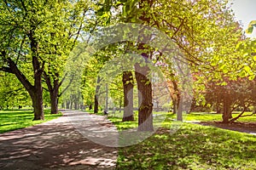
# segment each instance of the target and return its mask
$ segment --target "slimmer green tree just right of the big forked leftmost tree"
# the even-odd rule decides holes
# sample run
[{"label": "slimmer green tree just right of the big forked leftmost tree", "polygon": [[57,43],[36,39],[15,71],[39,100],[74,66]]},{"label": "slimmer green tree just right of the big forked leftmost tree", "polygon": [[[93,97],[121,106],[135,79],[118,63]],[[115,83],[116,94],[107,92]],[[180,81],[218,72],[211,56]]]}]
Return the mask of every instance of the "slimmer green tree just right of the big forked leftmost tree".
[{"label": "slimmer green tree just right of the big forked leftmost tree", "polygon": [[59,89],[67,76],[67,74],[63,75],[67,56],[77,44],[82,32],[89,31],[95,24],[93,18],[88,19],[91,12],[89,3],[83,0],[65,3],[59,8],[60,18],[53,23],[57,31],[46,32],[50,36],[45,40],[44,54],[55,56],[48,60],[48,65],[45,65],[44,69],[44,80],[50,94],[52,114],[57,113],[58,98],[64,93],[64,90],[60,93]]}]

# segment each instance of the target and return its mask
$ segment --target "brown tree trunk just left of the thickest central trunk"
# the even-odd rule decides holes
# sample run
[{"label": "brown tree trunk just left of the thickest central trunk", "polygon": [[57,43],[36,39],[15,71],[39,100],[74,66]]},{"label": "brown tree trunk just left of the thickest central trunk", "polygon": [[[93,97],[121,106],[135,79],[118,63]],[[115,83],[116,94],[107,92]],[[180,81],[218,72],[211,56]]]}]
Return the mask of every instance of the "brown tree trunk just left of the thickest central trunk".
[{"label": "brown tree trunk just left of the thickest central trunk", "polygon": [[124,116],[123,122],[134,121],[133,116],[133,77],[131,71],[123,72]]}]

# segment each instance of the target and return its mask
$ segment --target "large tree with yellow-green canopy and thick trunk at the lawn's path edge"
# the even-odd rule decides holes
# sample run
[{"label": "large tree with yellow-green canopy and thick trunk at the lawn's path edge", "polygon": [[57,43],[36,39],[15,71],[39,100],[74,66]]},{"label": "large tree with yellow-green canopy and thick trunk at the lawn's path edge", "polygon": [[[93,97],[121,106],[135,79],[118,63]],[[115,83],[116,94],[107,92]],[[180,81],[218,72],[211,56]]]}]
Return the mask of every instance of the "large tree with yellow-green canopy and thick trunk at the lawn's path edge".
[{"label": "large tree with yellow-green canopy and thick trunk at the lawn's path edge", "polygon": [[[122,7],[120,20],[153,26],[164,31],[183,52],[183,59],[189,63],[192,71],[211,72],[216,70],[214,78],[221,78],[219,72],[236,70],[234,65],[241,63],[236,60],[236,46],[241,38],[241,30],[226,7],[227,2],[209,1],[119,1],[113,2],[114,7]],[[142,37],[148,38],[148,37]],[[167,47],[168,48],[168,47]],[[152,50],[145,44],[139,44],[138,50],[145,59],[150,59]],[[159,49],[162,52],[168,49]],[[165,55],[158,60],[168,63]],[[231,60],[231,62],[230,62]],[[148,72],[148,68],[136,65],[138,88],[143,93],[143,105],[139,110],[139,130],[152,130],[152,92],[147,77],[137,74],[140,70]],[[242,70],[245,67],[241,67]],[[173,70],[173,68],[172,68]],[[219,71],[219,72],[218,72]],[[141,82],[144,83],[141,83]],[[145,83],[147,82],[147,83]],[[146,97],[147,96],[147,97]],[[143,123],[148,119],[148,123]]]}]

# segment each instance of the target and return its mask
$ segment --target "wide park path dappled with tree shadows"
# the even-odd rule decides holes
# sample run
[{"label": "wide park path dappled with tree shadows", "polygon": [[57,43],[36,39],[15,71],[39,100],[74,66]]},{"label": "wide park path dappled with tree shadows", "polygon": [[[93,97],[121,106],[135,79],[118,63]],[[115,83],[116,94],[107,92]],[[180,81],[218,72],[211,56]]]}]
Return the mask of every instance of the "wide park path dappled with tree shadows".
[{"label": "wide park path dappled with tree shadows", "polygon": [[[114,169],[118,150],[108,145],[118,140],[106,138],[109,129],[117,131],[105,116],[63,111],[55,120],[1,133],[0,169]],[[105,143],[87,136],[92,130]]]}]

